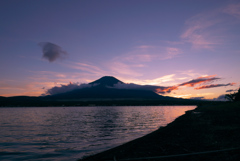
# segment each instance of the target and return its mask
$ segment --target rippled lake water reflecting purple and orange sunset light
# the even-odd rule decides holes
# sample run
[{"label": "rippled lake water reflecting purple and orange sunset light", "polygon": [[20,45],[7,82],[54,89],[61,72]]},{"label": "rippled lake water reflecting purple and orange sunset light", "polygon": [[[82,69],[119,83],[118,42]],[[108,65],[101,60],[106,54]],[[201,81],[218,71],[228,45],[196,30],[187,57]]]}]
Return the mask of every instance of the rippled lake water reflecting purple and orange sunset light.
[{"label": "rippled lake water reflecting purple and orange sunset light", "polygon": [[0,160],[76,160],[146,135],[194,108],[0,108]]}]

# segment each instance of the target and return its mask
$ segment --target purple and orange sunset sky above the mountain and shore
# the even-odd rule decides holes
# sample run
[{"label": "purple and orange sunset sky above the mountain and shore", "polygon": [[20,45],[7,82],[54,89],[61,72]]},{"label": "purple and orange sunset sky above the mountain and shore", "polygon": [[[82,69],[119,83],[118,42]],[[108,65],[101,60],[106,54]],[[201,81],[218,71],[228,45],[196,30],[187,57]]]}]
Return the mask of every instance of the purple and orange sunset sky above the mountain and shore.
[{"label": "purple and orange sunset sky above the mountain and shore", "polygon": [[240,1],[1,0],[0,53],[0,96],[107,75],[214,99],[240,85]]}]

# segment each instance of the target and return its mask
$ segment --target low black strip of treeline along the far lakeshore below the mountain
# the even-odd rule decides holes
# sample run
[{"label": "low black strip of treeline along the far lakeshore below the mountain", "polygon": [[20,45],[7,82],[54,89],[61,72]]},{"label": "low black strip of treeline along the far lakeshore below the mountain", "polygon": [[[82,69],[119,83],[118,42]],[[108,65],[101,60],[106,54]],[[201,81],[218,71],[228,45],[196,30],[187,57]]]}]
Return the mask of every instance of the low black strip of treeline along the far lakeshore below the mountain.
[{"label": "low black strip of treeline along the far lakeshore below the mountain", "polygon": [[161,105],[203,105],[220,104],[217,101],[189,99],[86,99],[46,100],[39,97],[1,97],[0,107],[59,107],[59,106],[161,106]]}]

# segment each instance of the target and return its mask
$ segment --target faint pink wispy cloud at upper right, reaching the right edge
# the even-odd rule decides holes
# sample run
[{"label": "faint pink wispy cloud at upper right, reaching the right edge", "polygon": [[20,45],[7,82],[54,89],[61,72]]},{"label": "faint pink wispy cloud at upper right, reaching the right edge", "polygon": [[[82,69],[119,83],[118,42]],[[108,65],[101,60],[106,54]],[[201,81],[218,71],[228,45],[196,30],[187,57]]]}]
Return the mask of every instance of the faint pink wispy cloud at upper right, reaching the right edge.
[{"label": "faint pink wispy cloud at upper right, reaching the right edge", "polygon": [[185,22],[181,39],[192,44],[193,48],[214,49],[228,40],[226,39],[227,30],[231,30],[235,25],[235,20],[229,18],[229,15],[236,17],[239,22],[240,3],[192,16]]}]

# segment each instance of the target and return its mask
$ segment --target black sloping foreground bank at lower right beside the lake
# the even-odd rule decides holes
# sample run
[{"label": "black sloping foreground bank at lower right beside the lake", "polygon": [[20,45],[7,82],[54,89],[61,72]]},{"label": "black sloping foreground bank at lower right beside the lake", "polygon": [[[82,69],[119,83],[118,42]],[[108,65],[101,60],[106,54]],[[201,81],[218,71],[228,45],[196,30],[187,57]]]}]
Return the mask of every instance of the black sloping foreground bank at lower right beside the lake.
[{"label": "black sloping foreground bank at lower right beside the lake", "polygon": [[84,161],[240,159],[240,103],[199,106],[166,127]]}]

